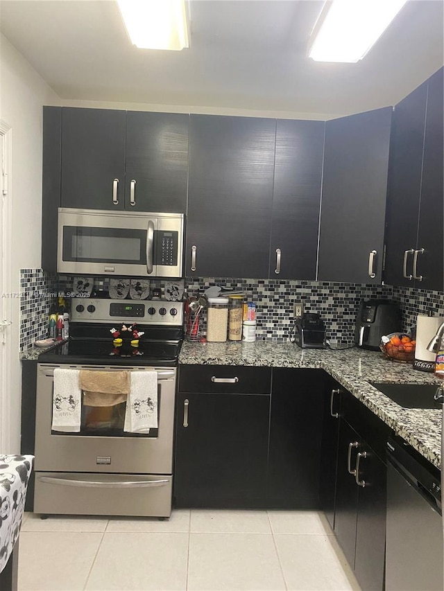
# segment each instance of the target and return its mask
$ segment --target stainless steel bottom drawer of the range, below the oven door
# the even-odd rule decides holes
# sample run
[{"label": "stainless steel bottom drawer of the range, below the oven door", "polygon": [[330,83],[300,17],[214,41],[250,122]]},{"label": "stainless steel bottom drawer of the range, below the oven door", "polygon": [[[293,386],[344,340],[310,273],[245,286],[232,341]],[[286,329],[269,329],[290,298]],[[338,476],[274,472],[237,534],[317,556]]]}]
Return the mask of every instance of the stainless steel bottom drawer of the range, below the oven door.
[{"label": "stainless steel bottom drawer of the range, below the oven door", "polygon": [[169,517],[171,488],[171,475],[36,472],[34,512]]}]

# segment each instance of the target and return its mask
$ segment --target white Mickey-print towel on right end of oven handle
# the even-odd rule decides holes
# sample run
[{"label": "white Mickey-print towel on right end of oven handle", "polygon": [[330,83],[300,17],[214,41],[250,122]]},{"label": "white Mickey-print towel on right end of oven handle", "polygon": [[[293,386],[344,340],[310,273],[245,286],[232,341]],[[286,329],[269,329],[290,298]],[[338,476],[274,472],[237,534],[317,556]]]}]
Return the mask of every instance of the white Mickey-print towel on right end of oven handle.
[{"label": "white Mickey-print towel on right end of oven handle", "polygon": [[150,429],[157,429],[157,371],[131,371],[123,431],[149,433]]}]

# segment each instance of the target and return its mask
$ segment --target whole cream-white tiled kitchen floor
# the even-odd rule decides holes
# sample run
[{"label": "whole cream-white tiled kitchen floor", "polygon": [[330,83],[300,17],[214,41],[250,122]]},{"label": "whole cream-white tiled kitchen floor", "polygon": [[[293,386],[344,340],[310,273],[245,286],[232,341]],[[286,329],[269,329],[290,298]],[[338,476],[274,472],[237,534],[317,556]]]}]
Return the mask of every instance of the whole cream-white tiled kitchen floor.
[{"label": "whole cream-white tiled kitchen floor", "polygon": [[170,520],[26,513],[19,591],[359,591],[323,513],[176,510]]}]

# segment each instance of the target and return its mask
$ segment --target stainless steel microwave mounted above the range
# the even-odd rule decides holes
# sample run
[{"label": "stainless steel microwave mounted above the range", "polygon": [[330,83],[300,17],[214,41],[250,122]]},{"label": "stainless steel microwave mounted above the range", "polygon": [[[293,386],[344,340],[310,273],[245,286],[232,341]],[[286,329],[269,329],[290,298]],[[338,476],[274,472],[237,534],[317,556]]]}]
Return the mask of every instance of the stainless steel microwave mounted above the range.
[{"label": "stainless steel microwave mounted above the range", "polygon": [[182,277],[183,213],[58,209],[59,273]]}]

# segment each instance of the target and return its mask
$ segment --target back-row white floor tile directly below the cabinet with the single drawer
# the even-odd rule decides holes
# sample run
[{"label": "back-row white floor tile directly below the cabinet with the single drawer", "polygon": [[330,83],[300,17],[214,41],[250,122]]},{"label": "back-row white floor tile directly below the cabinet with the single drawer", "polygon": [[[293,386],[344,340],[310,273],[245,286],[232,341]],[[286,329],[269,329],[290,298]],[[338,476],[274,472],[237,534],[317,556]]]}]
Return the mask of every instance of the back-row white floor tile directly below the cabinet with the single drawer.
[{"label": "back-row white floor tile directly below the cabinet with the single drawer", "polygon": [[196,533],[271,533],[266,511],[191,509],[190,531]]}]

